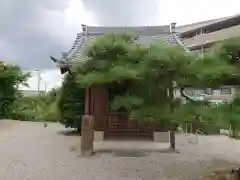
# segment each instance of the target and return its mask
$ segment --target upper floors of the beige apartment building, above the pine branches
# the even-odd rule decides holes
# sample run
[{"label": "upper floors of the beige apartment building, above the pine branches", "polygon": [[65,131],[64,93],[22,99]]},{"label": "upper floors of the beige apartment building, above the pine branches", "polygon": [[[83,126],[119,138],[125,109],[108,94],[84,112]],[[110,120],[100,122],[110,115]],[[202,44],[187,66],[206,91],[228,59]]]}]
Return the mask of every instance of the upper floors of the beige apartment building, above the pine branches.
[{"label": "upper floors of the beige apartment building, above the pine branches", "polygon": [[176,27],[185,46],[202,51],[216,42],[240,36],[240,14]]}]

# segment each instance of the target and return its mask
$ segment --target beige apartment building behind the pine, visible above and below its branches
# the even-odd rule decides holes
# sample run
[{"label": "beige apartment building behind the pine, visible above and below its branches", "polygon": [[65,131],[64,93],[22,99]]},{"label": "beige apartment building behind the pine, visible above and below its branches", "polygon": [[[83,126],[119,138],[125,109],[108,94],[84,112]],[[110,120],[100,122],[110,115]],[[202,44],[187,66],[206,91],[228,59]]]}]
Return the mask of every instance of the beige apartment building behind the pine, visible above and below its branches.
[{"label": "beige apartment building behind the pine, visible above and below its branches", "polygon": [[[177,26],[176,32],[185,47],[193,52],[203,54],[211,50],[216,42],[240,36],[240,14],[208,21]],[[188,90],[191,96],[199,94],[212,95],[212,98],[231,99],[236,94],[236,87],[222,86],[220,89]]]}]

